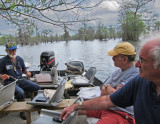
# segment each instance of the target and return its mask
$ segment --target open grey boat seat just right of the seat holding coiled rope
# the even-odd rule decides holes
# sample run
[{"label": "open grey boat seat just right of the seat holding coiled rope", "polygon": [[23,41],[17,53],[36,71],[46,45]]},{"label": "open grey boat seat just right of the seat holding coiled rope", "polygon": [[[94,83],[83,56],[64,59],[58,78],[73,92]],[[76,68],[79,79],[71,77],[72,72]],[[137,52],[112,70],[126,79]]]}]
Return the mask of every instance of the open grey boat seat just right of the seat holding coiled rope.
[{"label": "open grey boat seat just right of the seat holding coiled rope", "polygon": [[90,67],[84,76],[77,76],[72,79],[72,84],[74,86],[90,86],[94,81],[94,76],[96,74],[96,68]]}]

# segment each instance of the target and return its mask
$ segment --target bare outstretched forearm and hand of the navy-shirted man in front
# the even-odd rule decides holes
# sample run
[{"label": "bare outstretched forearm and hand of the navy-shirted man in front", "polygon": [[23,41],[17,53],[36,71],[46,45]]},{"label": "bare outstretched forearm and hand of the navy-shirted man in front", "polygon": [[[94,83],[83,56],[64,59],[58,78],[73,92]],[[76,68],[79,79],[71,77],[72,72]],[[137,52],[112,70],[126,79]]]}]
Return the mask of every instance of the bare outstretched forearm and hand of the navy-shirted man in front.
[{"label": "bare outstretched forearm and hand of the navy-shirted man in front", "polygon": [[61,119],[65,120],[75,110],[104,110],[115,107],[110,96],[101,96],[91,100],[84,101],[82,104],[76,103],[63,109]]}]

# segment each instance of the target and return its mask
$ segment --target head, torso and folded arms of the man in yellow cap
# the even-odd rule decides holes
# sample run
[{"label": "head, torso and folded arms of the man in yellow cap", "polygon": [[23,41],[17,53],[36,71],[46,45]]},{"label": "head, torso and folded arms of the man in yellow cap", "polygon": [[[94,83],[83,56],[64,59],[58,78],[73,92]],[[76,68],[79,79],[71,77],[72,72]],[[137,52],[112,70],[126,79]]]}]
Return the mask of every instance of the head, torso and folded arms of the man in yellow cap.
[{"label": "head, torso and folded arms of the man in yellow cap", "polygon": [[135,67],[136,50],[129,42],[122,42],[108,51],[112,56],[114,66],[118,69],[108,78],[102,86],[101,95],[108,95],[122,87],[128,80],[138,74],[139,69]]}]

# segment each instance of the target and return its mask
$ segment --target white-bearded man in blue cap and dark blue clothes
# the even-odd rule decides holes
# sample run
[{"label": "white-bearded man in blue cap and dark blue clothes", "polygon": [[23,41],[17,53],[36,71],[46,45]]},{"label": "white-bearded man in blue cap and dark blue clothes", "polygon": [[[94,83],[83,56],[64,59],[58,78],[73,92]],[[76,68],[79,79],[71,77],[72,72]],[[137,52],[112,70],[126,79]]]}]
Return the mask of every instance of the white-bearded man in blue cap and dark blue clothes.
[{"label": "white-bearded man in blue cap and dark blue clothes", "polygon": [[[40,87],[22,77],[22,74],[26,74],[28,77],[31,73],[27,70],[24,60],[16,55],[17,45],[15,42],[9,42],[6,44],[7,56],[0,59],[0,78],[4,80],[4,84],[10,84],[15,79],[19,79],[16,82],[15,97],[17,101],[24,101],[25,91],[35,92],[40,90]],[[23,113],[20,113],[22,119],[25,119]]]}]

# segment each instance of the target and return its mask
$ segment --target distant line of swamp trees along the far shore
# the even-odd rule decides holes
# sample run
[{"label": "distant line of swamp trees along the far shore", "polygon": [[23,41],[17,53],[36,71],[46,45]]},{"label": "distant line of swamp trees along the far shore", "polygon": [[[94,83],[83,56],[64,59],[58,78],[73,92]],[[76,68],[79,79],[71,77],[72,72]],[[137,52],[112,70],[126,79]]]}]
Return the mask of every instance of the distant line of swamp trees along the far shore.
[{"label": "distant line of swamp trees along the far shore", "polygon": [[91,26],[81,27],[77,31],[76,34],[70,35],[69,30],[64,29],[63,35],[53,35],[53,32],[50,29],[44,29],[41,33],[37,33],[36,36],[32,36],[33,29],[32,28],[23,28],[18,29],[17,36],[3,36],[0,38],[0,43],[4,44],[8,41],[17,41],[18,44],[27,45],[27,44],[38,44],[38,43],[47,43],[47,42],[55,42],[55,41],[69,41],[69,40],[108,40],[112,38],[120,38],[121,34],[117,30],[117,27],[113,26],[104,26],[99,24],[96,28]]}]

